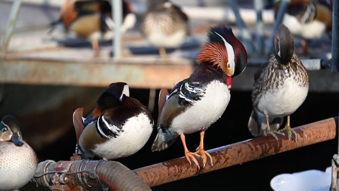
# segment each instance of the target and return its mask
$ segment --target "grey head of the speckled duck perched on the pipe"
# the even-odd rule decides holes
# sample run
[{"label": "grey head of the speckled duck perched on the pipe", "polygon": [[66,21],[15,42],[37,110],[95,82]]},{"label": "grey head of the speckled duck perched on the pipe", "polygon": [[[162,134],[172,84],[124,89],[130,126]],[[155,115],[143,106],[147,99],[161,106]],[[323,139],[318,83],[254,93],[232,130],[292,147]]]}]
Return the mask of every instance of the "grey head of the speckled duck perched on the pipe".
[{"label": "grey head of the speckled duck perched on the pipe", "polygon": [[288,64],[294,52],[294,39],[284,24],[279,26],[274,36],[274,49],[279,64]]}]

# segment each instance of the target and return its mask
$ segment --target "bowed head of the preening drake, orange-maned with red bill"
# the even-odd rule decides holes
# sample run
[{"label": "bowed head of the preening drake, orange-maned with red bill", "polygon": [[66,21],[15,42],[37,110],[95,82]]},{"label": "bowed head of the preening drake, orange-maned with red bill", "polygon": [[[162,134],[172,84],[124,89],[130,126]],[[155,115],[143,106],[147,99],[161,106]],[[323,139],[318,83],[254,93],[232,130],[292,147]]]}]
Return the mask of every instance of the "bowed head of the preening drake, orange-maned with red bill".
[{"label": "bowed head of the preening drake, orange-maned with red bill", "polygon": [[246,67],[245,47],[227,26],[211,27],[207,37],[208,42],[200,49],[196,62],[221,68],[230,86],[232,77],[239,75]]}]

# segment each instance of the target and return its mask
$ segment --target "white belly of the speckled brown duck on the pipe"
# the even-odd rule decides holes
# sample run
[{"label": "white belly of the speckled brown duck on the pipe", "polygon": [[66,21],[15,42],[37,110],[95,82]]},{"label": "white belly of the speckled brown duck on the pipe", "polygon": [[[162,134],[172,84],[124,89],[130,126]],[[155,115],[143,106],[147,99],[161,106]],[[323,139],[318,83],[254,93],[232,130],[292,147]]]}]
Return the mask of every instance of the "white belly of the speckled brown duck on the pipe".
[{"label": "white belly of the speckled brown duck on the pipe", "polygon": [[284,84],[265,92],[259,100],[258,109],[272,117],[284,117],[297,110],[306,99],[308,87],[300,87],[293,78],[284,80]]}]

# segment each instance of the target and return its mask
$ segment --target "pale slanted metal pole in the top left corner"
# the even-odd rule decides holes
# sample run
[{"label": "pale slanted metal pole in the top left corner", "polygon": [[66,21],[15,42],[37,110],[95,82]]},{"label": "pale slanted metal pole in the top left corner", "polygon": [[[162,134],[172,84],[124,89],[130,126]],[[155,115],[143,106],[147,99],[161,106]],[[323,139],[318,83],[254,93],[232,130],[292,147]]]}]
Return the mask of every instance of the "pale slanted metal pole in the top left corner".
[{"label": "pale slanted metal pole in the top left corner", "polygon": [[18,18],[20,6],[21,6],[21,0],[14,0],[12,4],[12,8],[10,10],[9,18],[8,18],[7,29],[6,29],[6,34],[5,34],[6,36],[3,39],[3,44],[1,48],[2,57],[4,57],[7,53],[9,41],[14,32],[15,23],[16,23],[16,19]]}]

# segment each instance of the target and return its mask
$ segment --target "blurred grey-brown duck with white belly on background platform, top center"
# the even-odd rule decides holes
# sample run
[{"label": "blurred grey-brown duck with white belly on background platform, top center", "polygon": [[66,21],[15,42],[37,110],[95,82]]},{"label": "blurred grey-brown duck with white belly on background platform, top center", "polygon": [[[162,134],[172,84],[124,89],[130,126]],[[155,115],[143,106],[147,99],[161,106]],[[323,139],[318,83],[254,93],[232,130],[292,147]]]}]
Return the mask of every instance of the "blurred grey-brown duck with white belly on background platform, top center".
[{"label": "blurred grey-brown duck with white belly on background platform, top center", "polygon": [[165,58],[165,48],[177,48],[185,41],[189,33],[188,17],[169,0],[149,0],[141,31]]}]

